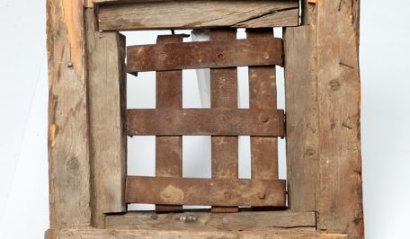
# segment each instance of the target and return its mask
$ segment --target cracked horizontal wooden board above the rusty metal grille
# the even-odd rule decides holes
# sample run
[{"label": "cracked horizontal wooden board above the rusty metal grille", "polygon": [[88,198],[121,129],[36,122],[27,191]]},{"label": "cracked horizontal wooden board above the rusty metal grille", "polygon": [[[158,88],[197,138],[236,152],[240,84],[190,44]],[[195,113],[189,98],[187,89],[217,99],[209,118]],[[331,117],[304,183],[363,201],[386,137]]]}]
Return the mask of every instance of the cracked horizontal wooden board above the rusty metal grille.
[{"label": "cracked horizontal wooden board above the rusty metal grille", "polygon": [[299,1],[295,0],[120,2],[99,4],[100,31],[259,28],[299,24]]}]

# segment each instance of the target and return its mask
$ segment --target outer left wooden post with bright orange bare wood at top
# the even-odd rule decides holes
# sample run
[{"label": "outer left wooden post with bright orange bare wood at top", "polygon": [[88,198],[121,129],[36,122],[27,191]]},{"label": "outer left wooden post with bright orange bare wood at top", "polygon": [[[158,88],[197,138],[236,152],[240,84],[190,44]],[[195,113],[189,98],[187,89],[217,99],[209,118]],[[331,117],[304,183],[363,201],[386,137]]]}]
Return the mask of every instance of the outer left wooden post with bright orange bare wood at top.
[{"label": "outer left wooden post with bright orange bare wood at top", "polygon": [[82,1],[47,1],[51,228],[91,226]]}]

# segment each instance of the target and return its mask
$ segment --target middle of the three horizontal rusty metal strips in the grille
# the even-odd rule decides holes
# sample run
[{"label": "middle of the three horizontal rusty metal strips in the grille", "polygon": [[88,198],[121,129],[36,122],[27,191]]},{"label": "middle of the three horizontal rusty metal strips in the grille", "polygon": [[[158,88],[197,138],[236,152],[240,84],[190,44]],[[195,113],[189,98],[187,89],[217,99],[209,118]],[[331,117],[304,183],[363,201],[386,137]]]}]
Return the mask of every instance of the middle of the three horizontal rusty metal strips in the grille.
[{"label": "middle of the three horizontal rusty metal strips in the grille", "polygon": [[245,109],[128,110],[129,136],[284,137],[284,111]]}]

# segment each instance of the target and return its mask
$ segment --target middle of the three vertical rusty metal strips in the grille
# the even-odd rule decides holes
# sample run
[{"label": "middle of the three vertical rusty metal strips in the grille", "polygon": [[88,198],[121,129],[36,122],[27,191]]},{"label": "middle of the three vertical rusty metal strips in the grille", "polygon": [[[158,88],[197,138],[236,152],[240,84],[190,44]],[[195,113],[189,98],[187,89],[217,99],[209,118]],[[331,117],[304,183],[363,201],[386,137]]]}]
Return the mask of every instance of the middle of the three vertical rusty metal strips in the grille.
[{"label": "middle of the three vertical rusty metal strips in the grille", "polygon": [[[236,30],[212,29],[209,42],[236,41]],[[215,42],[215,43],[214,43]],[[241,50],[241,49],[238,49]],[[233,68],[210,69],[210,107],[212,109],[237,109],[237,70]],[[237,179],[237,137],[211,137],[211,173],[215,179]],[[212,207],[212,212],[237,212],[238,208]]]}]

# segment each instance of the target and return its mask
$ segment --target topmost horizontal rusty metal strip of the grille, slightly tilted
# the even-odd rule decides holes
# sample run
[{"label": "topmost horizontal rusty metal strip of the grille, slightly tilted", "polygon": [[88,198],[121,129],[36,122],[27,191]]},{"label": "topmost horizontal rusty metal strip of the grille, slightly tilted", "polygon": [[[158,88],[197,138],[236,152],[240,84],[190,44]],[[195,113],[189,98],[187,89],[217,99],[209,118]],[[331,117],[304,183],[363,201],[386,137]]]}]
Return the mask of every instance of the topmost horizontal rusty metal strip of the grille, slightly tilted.
[{"label": "topmost horizontal rusty metal strip of the grille, slightly tilted", "polygon": [[282,65],[281,39],[212,40],[131,46],[127,71]]}]

